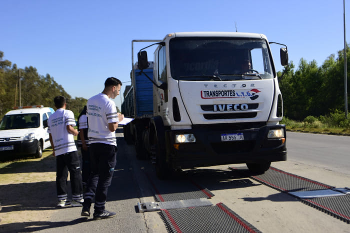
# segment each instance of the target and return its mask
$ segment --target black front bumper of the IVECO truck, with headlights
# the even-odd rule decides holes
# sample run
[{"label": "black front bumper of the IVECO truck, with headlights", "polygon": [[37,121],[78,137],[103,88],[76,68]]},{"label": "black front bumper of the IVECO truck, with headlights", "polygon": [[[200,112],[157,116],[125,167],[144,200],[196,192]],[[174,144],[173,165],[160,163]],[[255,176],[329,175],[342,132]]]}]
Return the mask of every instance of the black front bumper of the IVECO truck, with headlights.
[{"label": "black front bumper of the IVECO truck, with headlights", "polygon": [[[268,139],[270,129],[283,129],[284,139]],[[243,133],[242,141],[221,141],[221,134]],[[194,143],[174,146],[175,135],[193,134]],[[167,155],[173,168],[206,167],[223,164],[261,163],[286,160],[285,126],[273,125],[250,129],[194,127],[191,130],[165,131]]]}]

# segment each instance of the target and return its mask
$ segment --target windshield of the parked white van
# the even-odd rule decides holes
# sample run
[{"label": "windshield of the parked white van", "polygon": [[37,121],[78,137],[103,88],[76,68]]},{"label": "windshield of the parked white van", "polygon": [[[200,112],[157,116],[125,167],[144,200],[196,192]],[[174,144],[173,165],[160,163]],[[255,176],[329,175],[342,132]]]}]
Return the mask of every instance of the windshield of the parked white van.
[{"label": "windshield of the parked white van", "polygon": [[37,128],[39,125],[37,113],[5,115],[0,122],[0,130]]}]

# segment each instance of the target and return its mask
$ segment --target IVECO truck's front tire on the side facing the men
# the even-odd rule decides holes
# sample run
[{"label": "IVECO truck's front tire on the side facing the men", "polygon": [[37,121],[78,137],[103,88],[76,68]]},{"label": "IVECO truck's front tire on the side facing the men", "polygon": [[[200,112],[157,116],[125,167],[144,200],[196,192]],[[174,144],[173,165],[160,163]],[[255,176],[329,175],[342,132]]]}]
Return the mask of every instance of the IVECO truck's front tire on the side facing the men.
[{"label": "IVECO truck's front tire on the side facing the men", "polygon": [[172,168],[166,161],[164,125],[160,117],[152,119],[153,146],[155,148],[155,174],[159,180],[169,179],[172,176]]}]

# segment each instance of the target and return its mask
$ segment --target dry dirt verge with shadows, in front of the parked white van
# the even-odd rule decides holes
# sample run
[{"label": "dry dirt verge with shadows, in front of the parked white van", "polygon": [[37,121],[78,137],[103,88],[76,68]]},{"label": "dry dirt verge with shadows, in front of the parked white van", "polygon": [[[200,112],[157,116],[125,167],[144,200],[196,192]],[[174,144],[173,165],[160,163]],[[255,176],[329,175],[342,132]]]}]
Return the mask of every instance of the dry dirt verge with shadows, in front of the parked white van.
[{"label": "dry dirt verge with shadows, in front of the parked white van", "polygon": [[0,232],[18,232],[49,220],[58,211],[55,179],[52,149],[40,159],[0,162]]}]

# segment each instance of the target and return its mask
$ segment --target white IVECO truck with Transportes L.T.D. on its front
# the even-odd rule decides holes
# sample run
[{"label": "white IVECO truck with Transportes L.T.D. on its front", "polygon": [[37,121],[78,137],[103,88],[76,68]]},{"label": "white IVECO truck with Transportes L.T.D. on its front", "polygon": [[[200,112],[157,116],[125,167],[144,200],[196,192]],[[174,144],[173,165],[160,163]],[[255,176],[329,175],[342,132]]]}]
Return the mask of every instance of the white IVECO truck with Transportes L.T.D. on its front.
[{"label": "white IVECO truck with Transportes L.T.D. on its front", "polygon": [[[135,41],[147,40],[132,41],[132,50]],[[170,33],[152,44],[152,77],[142,72],[149,62],[140,49],[136,74],[154,84],[153,116],[133,120],[124,135],[134,141],[138,158],[150,156],[159,179],[177,169],[236,163],[264,172],[271,162],[286,160],[270,43],[256,33]],[[285,45],[280,61],[288,64]],[[134,67],[132,54],[133,83]]]}]

